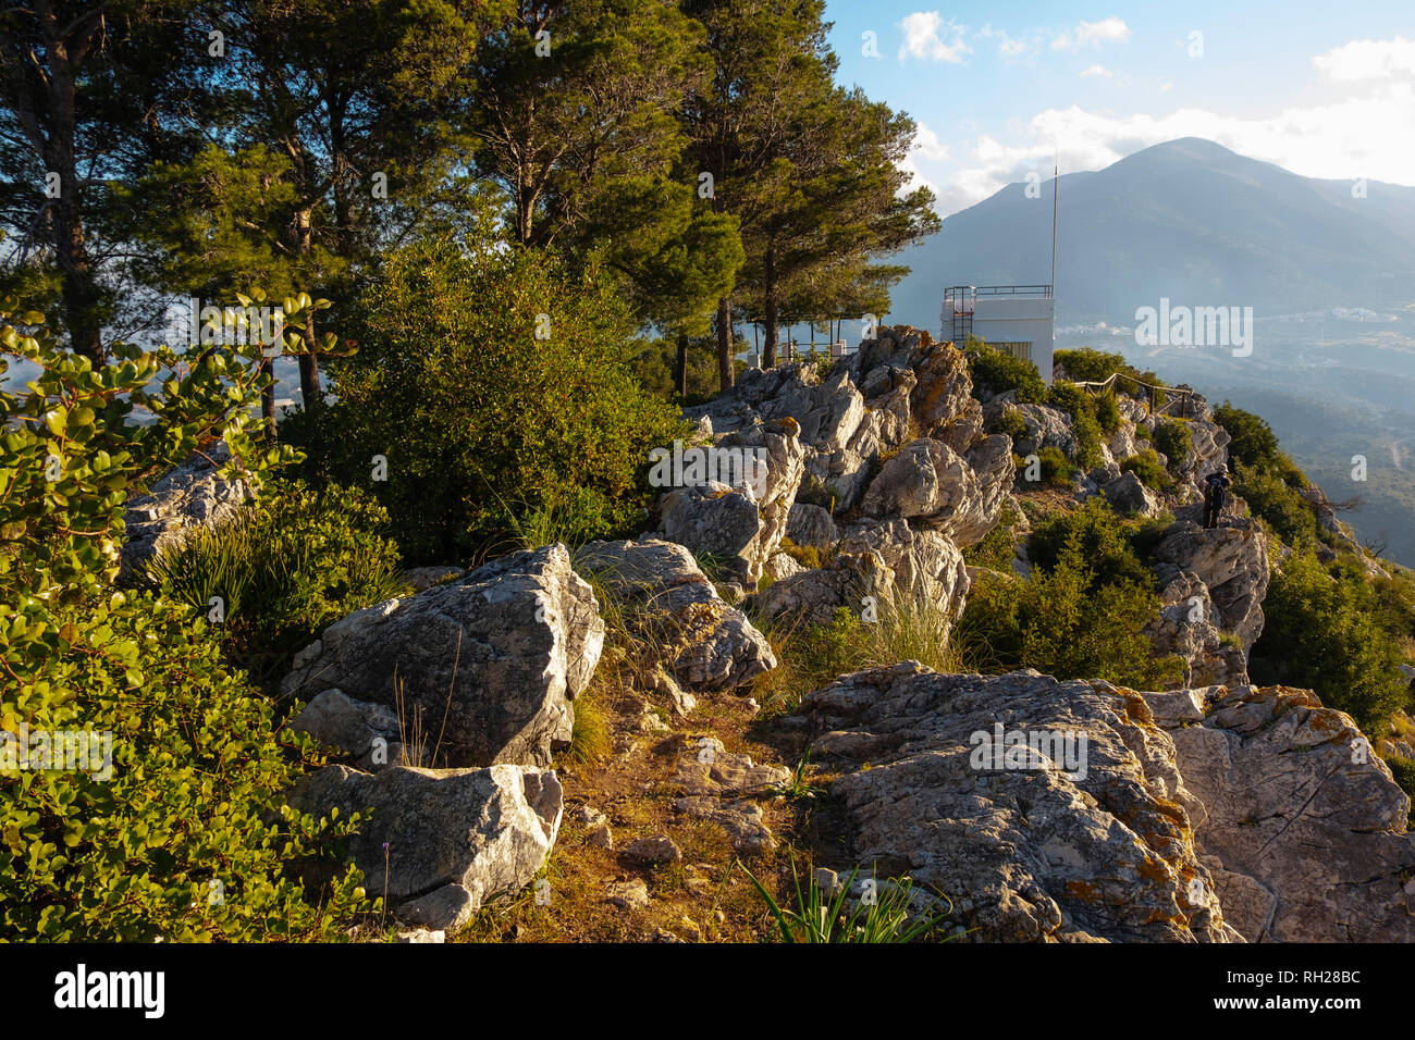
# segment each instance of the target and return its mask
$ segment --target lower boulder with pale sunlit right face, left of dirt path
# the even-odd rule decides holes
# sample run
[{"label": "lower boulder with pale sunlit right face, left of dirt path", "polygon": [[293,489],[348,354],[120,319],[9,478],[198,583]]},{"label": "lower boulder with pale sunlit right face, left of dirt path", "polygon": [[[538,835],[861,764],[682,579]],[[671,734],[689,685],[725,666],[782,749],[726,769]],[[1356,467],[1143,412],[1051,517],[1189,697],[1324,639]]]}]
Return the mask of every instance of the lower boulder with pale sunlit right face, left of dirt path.
[{"label": "lower boulder with pale sunlit right face, left of dirt path", "polygon": [[399,920],[432,930],[458,928],[488,899],[528,886],[563,812],[555,773],[519,765],[376,774],[328,765],[303,777],[289,802],[313,816],[366,814],[345,856]]}]

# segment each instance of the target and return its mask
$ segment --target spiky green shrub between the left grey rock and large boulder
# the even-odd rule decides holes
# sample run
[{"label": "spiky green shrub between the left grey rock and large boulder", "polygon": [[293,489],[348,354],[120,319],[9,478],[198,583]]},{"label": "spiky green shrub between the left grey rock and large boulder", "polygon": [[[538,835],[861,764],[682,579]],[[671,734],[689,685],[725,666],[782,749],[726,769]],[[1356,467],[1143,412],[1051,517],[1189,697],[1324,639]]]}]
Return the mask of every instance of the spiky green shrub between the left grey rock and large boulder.
[{"label": "spiky green shrub between the left grey rock and large boulder", "polygon": [[266,679],[324,625],[405,590],[386,529],[364,491],[280,481],[229,524],[164,549],[147,580],[202,614],[219,596],[232,661]]}]

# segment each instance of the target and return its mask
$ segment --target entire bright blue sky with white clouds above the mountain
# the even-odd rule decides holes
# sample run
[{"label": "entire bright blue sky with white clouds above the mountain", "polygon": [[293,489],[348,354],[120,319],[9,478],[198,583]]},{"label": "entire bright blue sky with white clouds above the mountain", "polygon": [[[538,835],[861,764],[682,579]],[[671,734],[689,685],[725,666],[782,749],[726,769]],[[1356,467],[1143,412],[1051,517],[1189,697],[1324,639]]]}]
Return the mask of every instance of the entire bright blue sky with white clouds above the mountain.
[{"label": "entire bright blue sky with white clouds above the mountain", "polygon": [[839,82],[918,122],[908,166],[941,215],[1050,177],[1057,150],[1073,173],[1187,136],[1306,177],[1415,184],[1412,0],[829,0],[826,18]]}]

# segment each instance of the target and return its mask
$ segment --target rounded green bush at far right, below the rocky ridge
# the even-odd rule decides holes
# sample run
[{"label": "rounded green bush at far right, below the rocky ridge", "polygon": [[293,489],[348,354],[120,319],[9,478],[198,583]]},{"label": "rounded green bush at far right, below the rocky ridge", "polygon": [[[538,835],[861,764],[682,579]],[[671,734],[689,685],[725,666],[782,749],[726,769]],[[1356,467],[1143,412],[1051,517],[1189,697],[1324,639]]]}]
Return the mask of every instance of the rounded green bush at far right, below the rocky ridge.
[{"label": "rounded green bush at far right, below the rocky ridge", "polygon": [[1375,590],[1357,574],[1337,569],[1333,576],[1299,549],[1274,572],[1262,613],[1249,665],[1255,682],[1309,688],[1368,734],[1404,706],[1399,647]]}]

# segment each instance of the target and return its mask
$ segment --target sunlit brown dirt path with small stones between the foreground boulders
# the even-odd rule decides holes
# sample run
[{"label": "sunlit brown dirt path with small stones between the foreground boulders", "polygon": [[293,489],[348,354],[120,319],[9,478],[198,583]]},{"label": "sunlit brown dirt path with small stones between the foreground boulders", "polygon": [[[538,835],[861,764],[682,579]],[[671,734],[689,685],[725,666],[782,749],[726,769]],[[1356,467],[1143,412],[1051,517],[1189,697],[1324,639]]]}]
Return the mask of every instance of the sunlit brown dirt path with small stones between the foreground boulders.
[{"label": "sunlit brown dirt path with small stones between the foreground boulders", "polygon": [[[617,734],[614,749],[594,764],[558,767],[566,815],[542,874],[548,886],[484,907],[453,941],[760,941],[774,935],[775,925],[743,866],[785,903],[792,860],[802,876],[812,865],[848,860],[838,812],[824,790],[754,798],[777,845],[756,855],[734,850],[719,824],[674,807],[686,794],[675,774],[681,763],[696,761],[703,737],[716,737],[729,754],[756,764],[794,770],[805,747],[799,732],[780,717],[763,719],[746,696],[719,693],[702,698],[685,719],[674,719],[672,732],[652,733],[640,729],[642,703],[630,692],[601,703]],[[824,787],[833,777],[808,767],[807,778]],[[606,818],[613,849],[593,843],[599,824],[584,821],[597,814]],[[635,840],[661,835],[682,859],[645,863],[625,853]],[[635,883],[647,896],[641,906]]]}]

